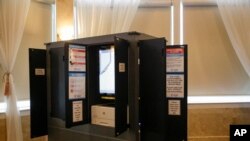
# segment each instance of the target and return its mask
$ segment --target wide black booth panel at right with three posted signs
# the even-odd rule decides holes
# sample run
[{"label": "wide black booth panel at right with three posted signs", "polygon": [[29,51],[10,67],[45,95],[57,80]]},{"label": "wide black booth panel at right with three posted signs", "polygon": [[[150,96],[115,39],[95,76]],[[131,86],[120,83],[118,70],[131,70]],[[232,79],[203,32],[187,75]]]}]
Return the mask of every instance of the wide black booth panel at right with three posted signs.
[{"label": "wide black booth panel at right with three posted signs", "polygon": [[187,141],[187,45],[139,41],[142,141]]}]

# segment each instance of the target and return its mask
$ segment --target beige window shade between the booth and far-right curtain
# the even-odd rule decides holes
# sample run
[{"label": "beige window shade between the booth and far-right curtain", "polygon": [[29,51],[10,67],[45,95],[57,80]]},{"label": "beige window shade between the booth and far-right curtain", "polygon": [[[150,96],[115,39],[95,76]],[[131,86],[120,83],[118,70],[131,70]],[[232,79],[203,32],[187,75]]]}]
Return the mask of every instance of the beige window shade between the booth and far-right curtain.
[{"label": "beige window shade between the booth and far-right curtain", "polygon": [[217,6],[185,6],[189,96],[249,95],[250,78],[241,65]]}]

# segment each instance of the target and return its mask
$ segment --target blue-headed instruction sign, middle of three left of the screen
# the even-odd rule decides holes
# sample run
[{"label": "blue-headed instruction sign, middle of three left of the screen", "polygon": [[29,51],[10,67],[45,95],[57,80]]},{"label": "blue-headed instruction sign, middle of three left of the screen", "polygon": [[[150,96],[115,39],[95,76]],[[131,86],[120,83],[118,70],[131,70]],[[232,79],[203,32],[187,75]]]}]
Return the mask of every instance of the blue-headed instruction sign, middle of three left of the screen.
[{"label": "blue-headed instruction sign, middle of three left of the screen", "polygon": [[69,99],[85,97],[85,73],[69,73]]}]

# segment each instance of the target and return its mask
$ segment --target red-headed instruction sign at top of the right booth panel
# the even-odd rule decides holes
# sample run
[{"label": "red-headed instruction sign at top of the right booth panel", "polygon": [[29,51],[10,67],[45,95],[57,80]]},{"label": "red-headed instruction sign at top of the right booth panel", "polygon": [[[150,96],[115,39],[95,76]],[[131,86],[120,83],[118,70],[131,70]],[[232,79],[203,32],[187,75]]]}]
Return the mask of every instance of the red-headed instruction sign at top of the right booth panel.
[{"label": "red-headed instruction sign at top of the right booth panel", "polygon": [[184,72],[184,49],[166,49],[166,54],[167,72]]}]

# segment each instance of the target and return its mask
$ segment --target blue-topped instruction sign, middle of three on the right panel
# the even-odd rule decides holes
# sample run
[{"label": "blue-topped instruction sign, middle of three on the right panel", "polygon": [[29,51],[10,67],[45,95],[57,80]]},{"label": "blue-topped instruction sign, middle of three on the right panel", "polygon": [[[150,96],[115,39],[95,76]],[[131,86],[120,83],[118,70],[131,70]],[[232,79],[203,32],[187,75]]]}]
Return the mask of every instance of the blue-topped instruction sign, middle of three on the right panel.
[{"label": "blue-topped instruction sign, middle of three on the right panel", "polygon": [[167,74],[166,79],[167,97],[184,98],[184,75]]}]

